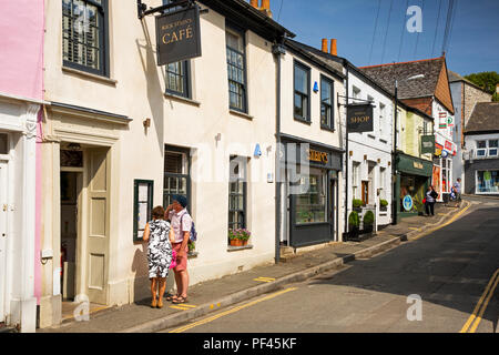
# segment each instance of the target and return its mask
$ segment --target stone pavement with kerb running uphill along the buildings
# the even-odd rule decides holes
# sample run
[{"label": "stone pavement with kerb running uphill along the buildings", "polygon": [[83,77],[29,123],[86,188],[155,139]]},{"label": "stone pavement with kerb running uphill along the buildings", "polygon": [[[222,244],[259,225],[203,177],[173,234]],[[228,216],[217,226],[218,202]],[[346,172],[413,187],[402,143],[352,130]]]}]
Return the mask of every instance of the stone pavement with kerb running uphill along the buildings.
[{"label": "stone pavement with kerb running uphill along the buildings", "polygon": [[448,221],[461,209],[437,204],[435,216],[403,219],[398,225],[388,225],[374,237],[361,242],[329,243],[320,248],[292,257],[284,256],[279,264],[266,264],[198,283],[190,287],[189,303],[173,305],[164,302],[162,310],[151,308],[150,300],[90,314],[90,321],[67,320],[59,327],[38,329],[38,333],[140,333],[157,332],[181,325],[223,307],[275,292],[288,283],[299,282],[315,274],[342,267],[355,258],[369,257],[390,248],[400,241],[410,240],[421,232]]}]

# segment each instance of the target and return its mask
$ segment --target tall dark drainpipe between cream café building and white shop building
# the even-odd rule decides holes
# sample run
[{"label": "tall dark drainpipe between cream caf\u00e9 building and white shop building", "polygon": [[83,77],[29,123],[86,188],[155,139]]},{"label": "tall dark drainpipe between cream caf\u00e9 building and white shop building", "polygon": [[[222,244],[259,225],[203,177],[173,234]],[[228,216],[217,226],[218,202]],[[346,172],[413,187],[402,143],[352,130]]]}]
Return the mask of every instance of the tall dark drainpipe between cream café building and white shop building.
[{"label": "tall dark drainpipe between cream caf\u00e9 building and white shop building", "polygon": [[275,55],[276,60],[276,120],[275,120],[275,138],[276,138],[276,149],[275,149],[275,263],[278,264],[281,260],[281,189],[282,189],[282,176],[281,176],[281,55],[285,54],[284,49],[284,38],[281,43],[275,43],[272,48],[272,53]]}]

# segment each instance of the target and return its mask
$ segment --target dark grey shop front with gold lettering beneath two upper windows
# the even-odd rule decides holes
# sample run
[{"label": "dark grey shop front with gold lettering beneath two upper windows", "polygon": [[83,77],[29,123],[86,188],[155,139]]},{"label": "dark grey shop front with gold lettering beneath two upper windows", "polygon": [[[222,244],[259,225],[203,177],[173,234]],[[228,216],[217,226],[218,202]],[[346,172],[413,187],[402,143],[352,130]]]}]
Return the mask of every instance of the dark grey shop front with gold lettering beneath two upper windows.
[{"label": "dark grey shop front with gold lettering beneath two upper windows", "polygon": [[335,241],[342,151],[309,142],[284,142],[286,151],[286,244],[301,247]]}]

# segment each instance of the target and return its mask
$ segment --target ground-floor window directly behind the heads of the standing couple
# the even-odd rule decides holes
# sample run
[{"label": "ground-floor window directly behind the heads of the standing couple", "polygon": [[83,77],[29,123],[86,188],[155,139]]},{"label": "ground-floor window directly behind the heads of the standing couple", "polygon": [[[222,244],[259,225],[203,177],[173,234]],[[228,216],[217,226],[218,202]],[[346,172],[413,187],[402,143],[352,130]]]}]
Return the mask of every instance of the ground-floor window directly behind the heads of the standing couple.
[{"label": "ground-floor window directly behind the heads of the standing couple", "polygon": [[163,183],[163,205],[167,206],[173,202],[173,195],[179,194],[187,199],[191,205],[190,194],[190,161],[189,151],[167,148],[164,154],[164,183]]}]

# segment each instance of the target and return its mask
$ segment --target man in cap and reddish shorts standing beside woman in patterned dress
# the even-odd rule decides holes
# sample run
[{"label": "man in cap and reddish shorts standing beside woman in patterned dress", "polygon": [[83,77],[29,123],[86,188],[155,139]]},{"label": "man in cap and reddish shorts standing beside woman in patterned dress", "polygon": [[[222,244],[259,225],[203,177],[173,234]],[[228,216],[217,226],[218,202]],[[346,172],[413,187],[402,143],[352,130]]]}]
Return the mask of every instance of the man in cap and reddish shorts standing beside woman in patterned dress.
[{"label": "man in cap and reddish shorts standing beside woman in patterned dress", "polygon": [[175,241],[173,250],[176,252],[176,266],[173,268],[175,274],[176,295],[166,297],[172,303],[187,302],[189,273],[187,273],[187,252],[189,240],[191,236],[192,217],[187,212],[187,199],[182,195],[174,195],[173,203],[167,206],[165,216],[171,221]]}]

